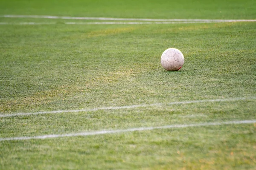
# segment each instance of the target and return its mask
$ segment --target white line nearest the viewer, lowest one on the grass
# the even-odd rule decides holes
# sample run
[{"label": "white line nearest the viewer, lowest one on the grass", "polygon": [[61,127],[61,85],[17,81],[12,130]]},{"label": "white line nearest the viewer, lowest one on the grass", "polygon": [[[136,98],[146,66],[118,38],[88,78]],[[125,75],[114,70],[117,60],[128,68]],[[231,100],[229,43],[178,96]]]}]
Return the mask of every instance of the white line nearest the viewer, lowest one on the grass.
[{"label": "white line nearest the viewer, lowest one on the grass", "polygon": [[100,130],[100,131],[93,131],[93,132],[52,134],[52,135],[44,135],[44,136],[22,136],[22,137],[0,138],[0,141],[47,139],[47,138],[59,138],[59,137],[72,137],[72,136],[92,136],[92,135],[104,135],[104,134],[109,134],[109,133],[124,133],[124,132],[134,132],[134,131],[154,130],[154,129],[172,129],[172,128],[184,128],[184,127],[217,126],[217,125],[231,125],[231,124],[252,124],[252,123],[256,123],[256,120],[209,122],[209,123],[186,124],[186,125],[166,125],[166,126],[158,126],[158,127],[138,127],[138,128],[131,128],[131,129]]}]

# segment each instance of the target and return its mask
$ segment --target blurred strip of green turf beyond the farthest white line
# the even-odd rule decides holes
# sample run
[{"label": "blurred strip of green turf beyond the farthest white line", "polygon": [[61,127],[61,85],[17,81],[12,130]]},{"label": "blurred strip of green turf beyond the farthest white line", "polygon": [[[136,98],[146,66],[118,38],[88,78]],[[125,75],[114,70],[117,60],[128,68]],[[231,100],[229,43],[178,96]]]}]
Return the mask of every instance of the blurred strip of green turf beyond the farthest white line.
[{"label": "blurred strip of green turf beyond the farthest white line", "polygon": [[0,14],[255,19],[255,0],[1,0]]}]

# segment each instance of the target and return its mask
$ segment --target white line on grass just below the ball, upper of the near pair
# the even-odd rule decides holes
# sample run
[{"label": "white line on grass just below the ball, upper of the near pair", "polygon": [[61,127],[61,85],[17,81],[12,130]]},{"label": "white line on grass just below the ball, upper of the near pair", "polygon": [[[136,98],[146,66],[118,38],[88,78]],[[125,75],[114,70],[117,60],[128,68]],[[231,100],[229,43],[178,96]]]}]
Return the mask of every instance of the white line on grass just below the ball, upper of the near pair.
[{"label": "white line on grass just below the ball, upper of the near pair", "polygon": [[41,112],[35,112],[35,113],[12,113],[12,114],[0,114],[0,118],[1,117],[12,117],[12,116],[29,116],[29,115],[38,115],[38,114],[76,113],[76,112],[89,112],[89,111],[99,111],[99,110],[131,109],[131,108],[142,108],[142,107],[152,107],[152,106],[159,107],[159,106],[163,106],[163,105],[180,105],[180,104],[189,104],[189,103],[229,102],[229,101],[250,100],[250,99],[256,99],[256,97],[239,97],[239,98],[230,98],[230,99],[210,99],[210,100],[192,100],[192,101],[171,102],[171,103],[153,103],[153,104],[117,106],[117,107],[85,108],[85,109],[79,109],[79,110],[41,111]]}]

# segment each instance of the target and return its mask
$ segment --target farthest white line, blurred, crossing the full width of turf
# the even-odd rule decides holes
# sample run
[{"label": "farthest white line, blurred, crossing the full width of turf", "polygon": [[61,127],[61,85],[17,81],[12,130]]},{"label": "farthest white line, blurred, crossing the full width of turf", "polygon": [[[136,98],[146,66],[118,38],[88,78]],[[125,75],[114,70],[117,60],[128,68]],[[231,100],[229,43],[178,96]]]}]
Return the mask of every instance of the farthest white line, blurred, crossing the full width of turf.
[{"label": "farthest white line, blurred, crossing the full width of turf", "polygon": [[256,20],[209,20],[209,19],[148,19],[148,18],[108,18],[108,17],[61,17],[48,15],[0,15],[6,18],[48,18],[67,20],[113,20],[113,21],[206,21],[206,22],[256,22]]}]

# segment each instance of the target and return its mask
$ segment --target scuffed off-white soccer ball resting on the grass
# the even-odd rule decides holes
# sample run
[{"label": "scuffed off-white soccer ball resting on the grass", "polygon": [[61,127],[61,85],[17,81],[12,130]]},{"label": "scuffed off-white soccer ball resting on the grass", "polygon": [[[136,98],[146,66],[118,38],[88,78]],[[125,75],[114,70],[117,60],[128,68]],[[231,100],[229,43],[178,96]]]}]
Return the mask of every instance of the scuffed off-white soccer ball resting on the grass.
[{"label": "scuffed off-white soccer ball resting on the grass", "polygon": [[161,65],[167,71],[178,71],[184,64],[184,56],[176,48],[168,48],[161,56]]}]

